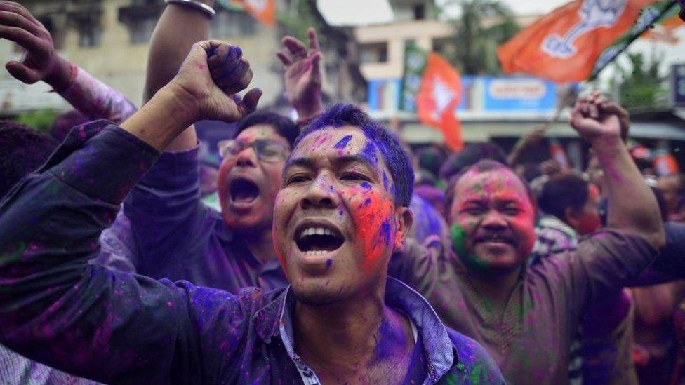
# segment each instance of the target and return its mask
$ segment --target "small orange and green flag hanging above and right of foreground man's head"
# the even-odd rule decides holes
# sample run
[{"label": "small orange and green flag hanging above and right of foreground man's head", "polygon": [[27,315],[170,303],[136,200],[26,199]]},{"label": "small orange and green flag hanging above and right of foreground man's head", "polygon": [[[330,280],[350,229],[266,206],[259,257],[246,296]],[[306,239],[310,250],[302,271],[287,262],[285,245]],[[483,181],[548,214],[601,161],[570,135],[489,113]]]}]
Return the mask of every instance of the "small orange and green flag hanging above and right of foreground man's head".
[{"label": "small orange and green flag hanging above and right of foreground man's head", "polygon": [[461,77],[447,60],[413,44],[406,46],[400,109],[415,112],[421,123],[442,131],[454,151],[464,146],[454,110],[461,98]]}]

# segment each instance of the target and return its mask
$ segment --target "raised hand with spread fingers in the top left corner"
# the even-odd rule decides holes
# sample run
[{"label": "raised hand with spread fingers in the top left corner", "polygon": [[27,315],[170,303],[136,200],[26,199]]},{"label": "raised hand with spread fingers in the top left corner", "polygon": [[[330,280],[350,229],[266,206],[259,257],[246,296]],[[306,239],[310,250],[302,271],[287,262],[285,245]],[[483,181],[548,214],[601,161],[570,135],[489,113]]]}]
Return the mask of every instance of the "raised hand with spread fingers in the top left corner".
[{"label": "raised hand with spread fingers in the top left corner", "polygon": [[46,81],[58,91],[69,86],[72,65],[58,55],[46,27],[24,6],[14,1],[0,1],[0,38],[26,50],[20,61],[5,65],[15,79],[27,84]]}]

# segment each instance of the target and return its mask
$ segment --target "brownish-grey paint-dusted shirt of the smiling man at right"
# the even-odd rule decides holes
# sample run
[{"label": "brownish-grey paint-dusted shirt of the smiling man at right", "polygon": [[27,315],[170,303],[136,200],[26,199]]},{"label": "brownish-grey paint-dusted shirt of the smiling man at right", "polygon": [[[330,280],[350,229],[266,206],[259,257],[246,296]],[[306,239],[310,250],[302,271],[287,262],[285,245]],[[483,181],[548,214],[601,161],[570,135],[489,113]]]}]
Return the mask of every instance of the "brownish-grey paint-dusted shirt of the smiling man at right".
[{"label": "brownish-grey paint-dusted shirt of the smiling man at right", "polygon": [[512,384],[568,381],[571,342],[582,316],[606,293],[637,276],[656,257],[646,240],[603,230],[575,252],[543,258],[522,271],[503,314],[469,285],[460,259],[441,253],[395,255],[389,274],[423,294],[443,322],[480,342]]}]

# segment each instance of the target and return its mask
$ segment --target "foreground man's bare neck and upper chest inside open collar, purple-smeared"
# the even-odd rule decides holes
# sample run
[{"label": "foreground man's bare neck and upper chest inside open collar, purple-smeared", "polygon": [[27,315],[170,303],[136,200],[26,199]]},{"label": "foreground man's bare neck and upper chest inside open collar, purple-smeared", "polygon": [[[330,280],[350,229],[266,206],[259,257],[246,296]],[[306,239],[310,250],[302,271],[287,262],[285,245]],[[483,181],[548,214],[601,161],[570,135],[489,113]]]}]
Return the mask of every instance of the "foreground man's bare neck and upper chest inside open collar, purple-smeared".
[{"label": "foreground man's bare neck and upper chest inside open collar, purple-smeared", "polygon": [[385,306],[384,292],[385,282],[381,290],[362,298],[324,306],[298,302],[295,346],[320,379],[356,382],[360,376],[411,357],[411,325],[405,316]]}]

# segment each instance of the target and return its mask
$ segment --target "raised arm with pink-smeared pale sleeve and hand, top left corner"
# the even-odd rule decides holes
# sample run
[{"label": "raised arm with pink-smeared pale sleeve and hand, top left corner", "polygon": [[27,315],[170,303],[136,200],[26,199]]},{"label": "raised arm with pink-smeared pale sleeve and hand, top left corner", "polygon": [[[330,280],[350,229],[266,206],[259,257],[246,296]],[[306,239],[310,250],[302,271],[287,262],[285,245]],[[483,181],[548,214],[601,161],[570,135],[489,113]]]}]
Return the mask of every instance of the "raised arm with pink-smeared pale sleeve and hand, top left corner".
[{"label": "raised arm with pink-smeared pale sleeve and hand, top left corner", "polygon": [[124,94],[62,58],[48,30],[20,4],[0,1],[0,37],[26,50],[20,62],[11,61],[5,66],[15,79],[27,84],[48,83],[91,119],[121,123],[136,111]]}]

